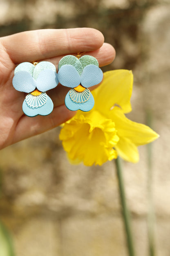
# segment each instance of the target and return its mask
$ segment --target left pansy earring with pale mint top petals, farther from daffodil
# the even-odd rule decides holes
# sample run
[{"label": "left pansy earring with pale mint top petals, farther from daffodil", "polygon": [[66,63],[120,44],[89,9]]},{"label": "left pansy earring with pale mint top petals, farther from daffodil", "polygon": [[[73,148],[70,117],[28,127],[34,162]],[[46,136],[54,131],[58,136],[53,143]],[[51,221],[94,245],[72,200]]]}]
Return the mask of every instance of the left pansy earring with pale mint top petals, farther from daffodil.
[{"label": "left pansy earring with pale mint top petals, farther from daffodil", "polygon": [[54,64],[23,62],[16,67],[12,83],[17,91],[29,93],[22,104],[22,110],[27,116],[46,116],[52,112],[54,105],[46,91],[58,85]]}]

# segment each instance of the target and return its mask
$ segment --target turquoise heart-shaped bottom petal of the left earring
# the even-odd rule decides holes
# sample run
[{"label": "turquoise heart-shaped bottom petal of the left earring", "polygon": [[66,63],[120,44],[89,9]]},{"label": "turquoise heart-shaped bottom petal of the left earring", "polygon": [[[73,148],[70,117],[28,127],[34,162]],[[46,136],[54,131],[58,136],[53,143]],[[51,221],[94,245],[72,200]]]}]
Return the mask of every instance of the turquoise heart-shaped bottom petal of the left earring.
[{"label": "turquoise heart-shaped bottom petal of the left earring", "polygon": [[47,116],[52,112],[53,107],[53,102],[51,101],[51,98],[49,98],[49,96],[47,96],[47,102],[45,103],[45,105],[38,108],[33,109],[29,107],[25,100],[22,104],[22,110],[28,117],[35,117],[38,114],[41,116]]}]

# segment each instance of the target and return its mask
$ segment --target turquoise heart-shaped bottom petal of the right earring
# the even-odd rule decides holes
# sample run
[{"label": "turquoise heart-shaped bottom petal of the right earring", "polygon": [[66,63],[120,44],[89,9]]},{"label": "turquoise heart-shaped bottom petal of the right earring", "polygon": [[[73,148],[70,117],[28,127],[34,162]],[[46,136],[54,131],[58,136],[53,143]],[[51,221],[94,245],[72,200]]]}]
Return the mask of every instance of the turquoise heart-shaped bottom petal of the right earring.
[{"label": "turquoise heart-shaped bottom petal of the right earring", "polygon": [[82,110],[84,112],[90,111],[94,107],[94,98],[93,95],[90,93],[90,97],[88,101],[85,103],[76,103],[71,100],[69,96],[69,92],[65,96],[65,105],[69,110],[76,111],[76,110]]}]

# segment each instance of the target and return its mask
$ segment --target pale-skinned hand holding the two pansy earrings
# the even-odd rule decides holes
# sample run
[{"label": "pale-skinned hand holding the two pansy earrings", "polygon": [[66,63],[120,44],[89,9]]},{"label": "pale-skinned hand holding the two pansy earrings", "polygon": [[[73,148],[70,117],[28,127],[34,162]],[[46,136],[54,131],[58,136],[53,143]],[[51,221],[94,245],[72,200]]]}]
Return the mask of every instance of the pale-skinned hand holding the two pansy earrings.
[{"label": "pale-skinned hand holding the two pansy earrings", "polygon": [[0,38],[0,149],[55,128],[75,114],[64,104],[69,89],[58,85],[47,92],[54,103],[51,114],[27,117],[22,111],[26,94],[12,85],[16,65],[49,61],[57,67],[61,57],[78,52],[94,56],[99,66],[110,64],[115,57],[103,34],[92,28],[34,30]]}]

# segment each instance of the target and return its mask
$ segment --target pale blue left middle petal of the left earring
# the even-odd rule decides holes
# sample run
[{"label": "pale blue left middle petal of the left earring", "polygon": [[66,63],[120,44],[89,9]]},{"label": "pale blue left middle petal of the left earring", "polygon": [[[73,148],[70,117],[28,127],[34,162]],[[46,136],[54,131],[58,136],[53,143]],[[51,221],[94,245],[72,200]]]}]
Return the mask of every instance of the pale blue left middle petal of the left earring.
[{"label": "pale blue left middle petal of the left earring", "polygon": [[18,71],[13,77],[12,84],[17,91],[31,92],[36,89],[36,81],[27,71]]}]

